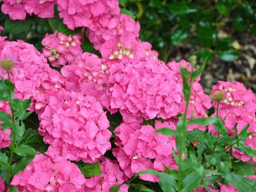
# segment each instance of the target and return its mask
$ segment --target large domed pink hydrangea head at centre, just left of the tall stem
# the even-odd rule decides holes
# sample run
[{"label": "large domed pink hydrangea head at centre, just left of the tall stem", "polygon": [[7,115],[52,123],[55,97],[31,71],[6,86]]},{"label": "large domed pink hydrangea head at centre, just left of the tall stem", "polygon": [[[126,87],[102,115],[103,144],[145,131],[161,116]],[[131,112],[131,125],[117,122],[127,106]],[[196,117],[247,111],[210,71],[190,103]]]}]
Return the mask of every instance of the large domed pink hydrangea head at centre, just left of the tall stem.
[{"label": "large domed pink hydrangea head at centre, just left of the tall stem", "polygon": [[177,115],[182,89],[172,70],[152,57],[122,60],[109,69],[105,105],[112,113],[118,109],[125,122],[138,118],[168,119]]}]

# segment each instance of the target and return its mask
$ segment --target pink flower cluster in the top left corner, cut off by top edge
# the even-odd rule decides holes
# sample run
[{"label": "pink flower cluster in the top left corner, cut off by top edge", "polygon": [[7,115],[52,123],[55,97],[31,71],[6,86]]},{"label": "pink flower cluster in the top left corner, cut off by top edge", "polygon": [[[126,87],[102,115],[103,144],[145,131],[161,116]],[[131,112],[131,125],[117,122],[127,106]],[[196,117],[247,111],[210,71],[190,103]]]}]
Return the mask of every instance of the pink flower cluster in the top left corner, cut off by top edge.
[{"label": "pink flower cluster in the top left corner, cut off by top edge", "polygon": [[26,14],[35,14],[41,18],[54,16],[56,0],[3,0],[1,11],[12,20],[25,20]]}]

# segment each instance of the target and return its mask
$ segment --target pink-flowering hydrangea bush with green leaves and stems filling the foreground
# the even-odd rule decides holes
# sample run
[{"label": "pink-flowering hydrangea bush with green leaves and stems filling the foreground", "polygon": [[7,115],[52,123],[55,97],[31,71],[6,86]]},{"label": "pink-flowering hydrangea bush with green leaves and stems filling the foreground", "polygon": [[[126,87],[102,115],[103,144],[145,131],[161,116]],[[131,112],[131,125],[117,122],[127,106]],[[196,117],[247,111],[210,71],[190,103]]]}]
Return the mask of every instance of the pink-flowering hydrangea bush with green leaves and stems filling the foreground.
[{"label": "pink-flowering hydrangea bush with green leaves and stems filling the foreground", "polygon": [[256,190],[250,89],[205,94],[205,63],[160,61],[117,0],[0,5],[1,192]]}]

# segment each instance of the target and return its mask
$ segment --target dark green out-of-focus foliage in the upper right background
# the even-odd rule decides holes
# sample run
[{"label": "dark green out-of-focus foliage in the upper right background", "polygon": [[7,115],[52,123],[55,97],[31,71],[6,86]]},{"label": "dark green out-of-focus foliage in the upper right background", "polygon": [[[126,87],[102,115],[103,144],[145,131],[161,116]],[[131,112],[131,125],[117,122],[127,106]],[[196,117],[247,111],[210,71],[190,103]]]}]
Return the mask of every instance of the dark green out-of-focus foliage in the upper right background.
[{"label": "dark green out-of-focus foliage in the upper right background", "polygon": [[170,49],[180,44],[199,45],[201,50],[193,55],[201,62],[212,61],[213,55],[223,61],[234,61],[239,52],[232,44],[219,46],[218,41],[226,35],[218,34],[232,37],[250,29],[251,35],[256,36],[255,1],[119,0],[119,3],[133,15],[140,15],[136,17],[141,25],[140,38],[149,41],[165,62],[172,57]]}]

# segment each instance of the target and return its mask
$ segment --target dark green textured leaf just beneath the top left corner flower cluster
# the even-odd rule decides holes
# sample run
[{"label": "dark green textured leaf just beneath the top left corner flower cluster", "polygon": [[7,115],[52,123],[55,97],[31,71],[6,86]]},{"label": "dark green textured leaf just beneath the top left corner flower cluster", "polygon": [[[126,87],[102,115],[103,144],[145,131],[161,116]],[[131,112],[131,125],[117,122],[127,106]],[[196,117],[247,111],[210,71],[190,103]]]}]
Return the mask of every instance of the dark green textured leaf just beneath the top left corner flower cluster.
[{"label": "dark green textured leaf just beneath the top left corner flower cluster", "polygon": [[27,33],[29,32],[31,24],[32,24],[31,17],[26,18],[26,20],[10,20],[8,17],[5,22],[3,34]]}]

